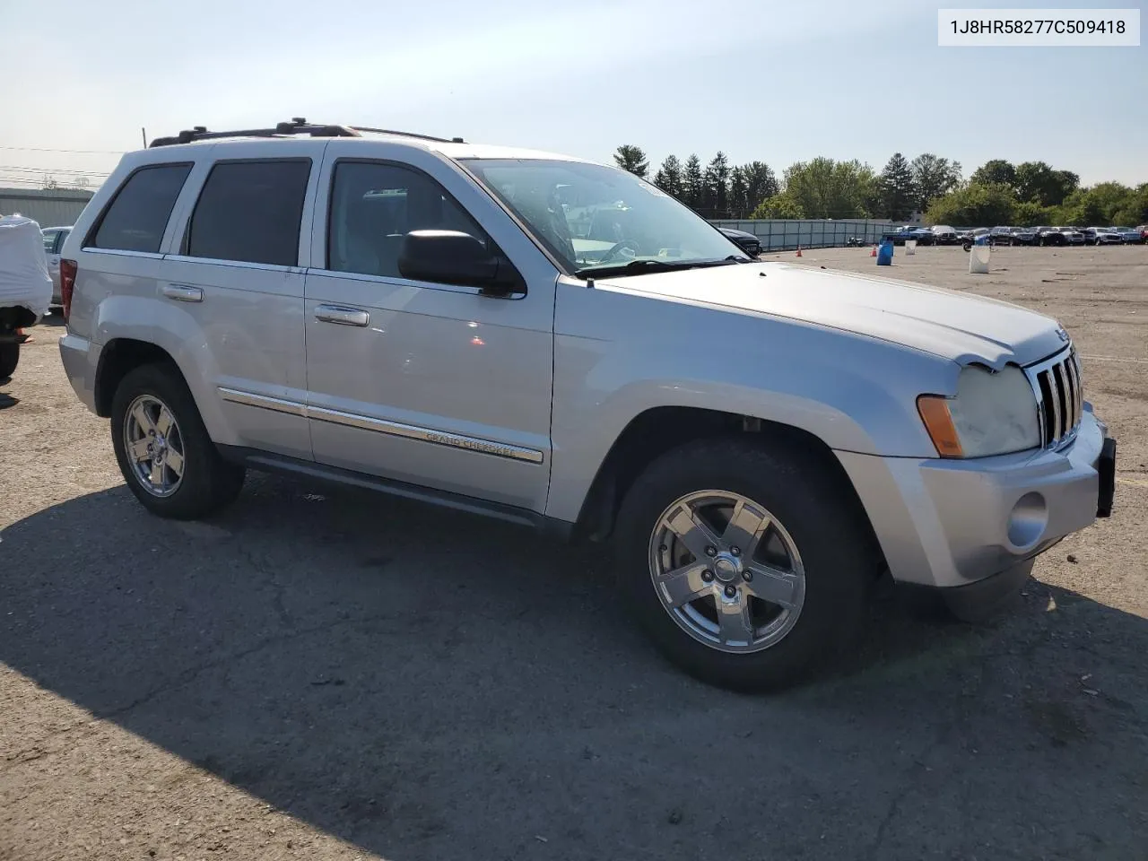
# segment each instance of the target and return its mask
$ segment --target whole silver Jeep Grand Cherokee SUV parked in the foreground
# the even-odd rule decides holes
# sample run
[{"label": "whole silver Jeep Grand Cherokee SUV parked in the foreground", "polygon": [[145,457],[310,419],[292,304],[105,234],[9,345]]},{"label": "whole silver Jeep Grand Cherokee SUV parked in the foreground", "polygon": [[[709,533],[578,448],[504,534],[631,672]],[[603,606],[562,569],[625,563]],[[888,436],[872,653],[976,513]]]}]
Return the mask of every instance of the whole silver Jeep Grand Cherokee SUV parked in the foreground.
[{"label": "whole silver Jeep Grand Cherokee SUV parked in the foreground", "polygon": [[124,156],[61,273],[64,367],[149,511],[279,470],[608,538],[722,685],[806,676],[885,571],[983,613],[1111,507],[1055,320],[751,262],[577,158],[197,127]]}]

